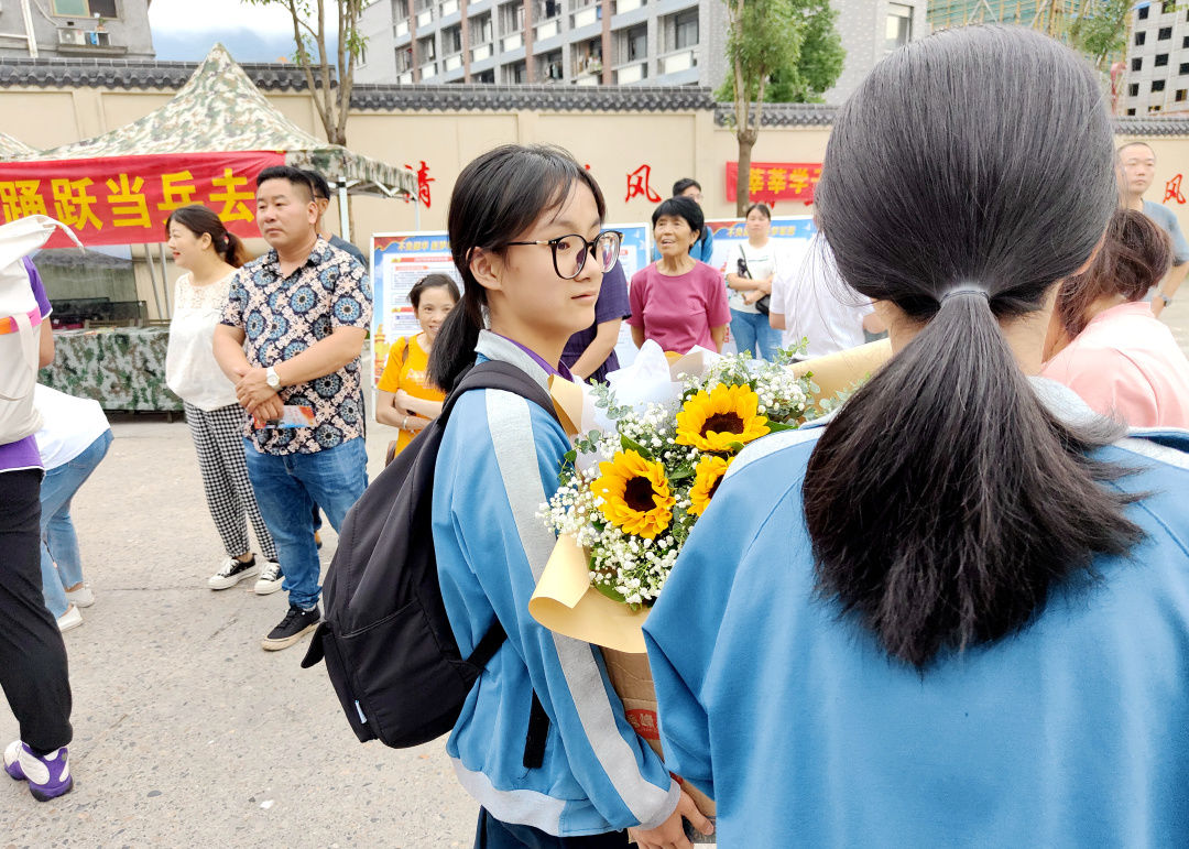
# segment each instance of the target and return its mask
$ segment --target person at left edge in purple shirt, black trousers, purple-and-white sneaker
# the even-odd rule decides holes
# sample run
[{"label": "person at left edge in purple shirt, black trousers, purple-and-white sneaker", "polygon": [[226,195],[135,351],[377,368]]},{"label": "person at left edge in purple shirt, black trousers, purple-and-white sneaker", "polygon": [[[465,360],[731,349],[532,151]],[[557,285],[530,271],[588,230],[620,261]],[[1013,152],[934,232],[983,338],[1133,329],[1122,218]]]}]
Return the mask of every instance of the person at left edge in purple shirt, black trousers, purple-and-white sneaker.
[{"label": "person at left edge in purple shirt, black trousers, purple-and-white sneaker", "polygon": [[[50,300],[37,269],[24,263],[42,313],[38,360],[44,367],[54,360],[54,334],[45,323]],[[14,367],[0,363],[0,369]],[[20,723],[20,740],[5,748],[4,765],[46,801],[74,786],[67,762],[74,731],[67,648],[42,597],[42,474],[33,436],[0,445],[0,686]]]}]

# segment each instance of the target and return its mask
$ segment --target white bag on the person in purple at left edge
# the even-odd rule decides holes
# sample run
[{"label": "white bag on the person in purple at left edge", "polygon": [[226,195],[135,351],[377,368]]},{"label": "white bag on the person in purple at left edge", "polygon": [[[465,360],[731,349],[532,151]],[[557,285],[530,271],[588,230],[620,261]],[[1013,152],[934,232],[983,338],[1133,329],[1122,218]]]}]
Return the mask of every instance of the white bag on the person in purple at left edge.
[{"label": "white bag on the person in purple at left edge", "polygon": [[21,262],[62,227],[78,247],[78,237],[61,221],[30,215],[0,226],[0,445],[37,433],[42,416],[33,405],[42,333],[50,329],[33,296]]}]

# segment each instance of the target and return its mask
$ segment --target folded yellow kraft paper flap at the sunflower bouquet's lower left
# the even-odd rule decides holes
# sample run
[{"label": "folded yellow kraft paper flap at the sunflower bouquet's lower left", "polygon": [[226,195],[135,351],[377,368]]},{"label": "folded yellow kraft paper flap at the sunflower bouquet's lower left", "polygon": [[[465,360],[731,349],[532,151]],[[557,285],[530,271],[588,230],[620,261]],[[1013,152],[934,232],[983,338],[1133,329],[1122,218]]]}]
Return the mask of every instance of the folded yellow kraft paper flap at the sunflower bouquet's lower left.
[{"label": "folded yellow kraft paper flap at the sunflower bouquet's lower left", "polygon": [[631,654],[644,653],[641,627],[648,610],[633,611],[591,586],[586,551],[562,534],[528,603],[534,620],[552,631]]}]

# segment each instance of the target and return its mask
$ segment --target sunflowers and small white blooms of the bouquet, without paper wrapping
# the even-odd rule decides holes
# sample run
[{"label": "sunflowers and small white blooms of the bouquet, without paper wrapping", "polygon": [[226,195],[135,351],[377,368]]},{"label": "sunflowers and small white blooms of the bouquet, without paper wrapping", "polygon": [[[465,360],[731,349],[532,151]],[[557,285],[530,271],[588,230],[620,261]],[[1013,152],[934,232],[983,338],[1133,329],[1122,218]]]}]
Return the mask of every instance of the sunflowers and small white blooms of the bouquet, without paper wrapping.
[{"label": "sunflowers and small white blooms of the bouquet, without paper wrapping", "polygon": [[674,365],[675,391],[618,405],[593,390],[602,429],[574,439],[560,486],[541,516],[587,555],[590,584],[633,610],[652,606],[694,523],[749,442],[816,414],[809,377],[748,354],[706,357],[698,373]]}]

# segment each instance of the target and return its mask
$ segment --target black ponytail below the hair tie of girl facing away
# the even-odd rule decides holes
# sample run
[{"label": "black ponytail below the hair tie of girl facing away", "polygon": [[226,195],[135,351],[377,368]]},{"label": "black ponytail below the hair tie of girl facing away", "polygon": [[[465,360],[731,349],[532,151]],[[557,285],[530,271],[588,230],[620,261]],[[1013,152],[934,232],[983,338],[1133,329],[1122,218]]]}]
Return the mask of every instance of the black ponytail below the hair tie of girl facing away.
[{"label": "black ponytail below the hair tie of girl facing away", "polygon": [[893,656],[998,640],[1095,552],[1138,528],[1076,433],[1042,405],[984,295],[936,316],[839,410],[810,458],[805,517],[818,586]]}]

